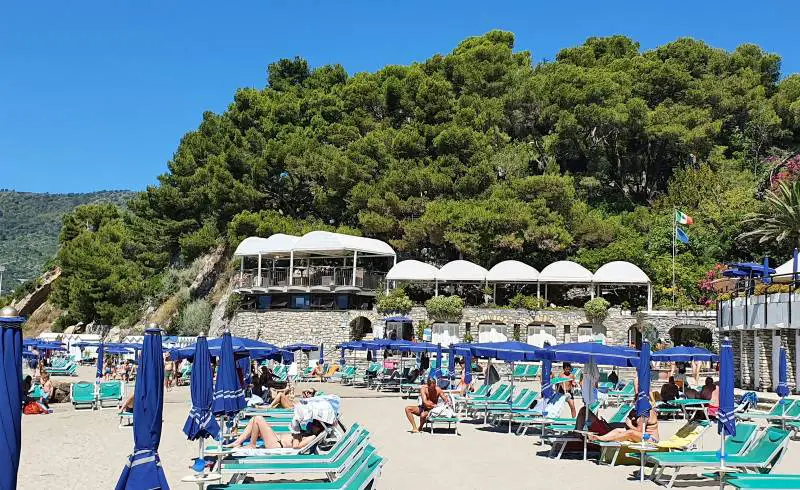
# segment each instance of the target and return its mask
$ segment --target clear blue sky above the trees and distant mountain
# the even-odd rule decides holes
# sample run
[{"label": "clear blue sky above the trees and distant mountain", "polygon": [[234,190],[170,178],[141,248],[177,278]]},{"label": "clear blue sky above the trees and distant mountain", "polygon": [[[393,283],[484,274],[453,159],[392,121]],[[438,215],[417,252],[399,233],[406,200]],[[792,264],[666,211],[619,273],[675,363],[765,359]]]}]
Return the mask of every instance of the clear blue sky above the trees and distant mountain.
[{"label": "clear blue sky above the trees and distant mountain", "polygon": [[[350,73],[446,53],[491,29],[535,61],[589,36],[761,45],[800,71],[795,2],[7,2],[0,13],[0,188],[141,190],[203,111],[302,56]],[[783,4],[783,5],[780,5]]]}]

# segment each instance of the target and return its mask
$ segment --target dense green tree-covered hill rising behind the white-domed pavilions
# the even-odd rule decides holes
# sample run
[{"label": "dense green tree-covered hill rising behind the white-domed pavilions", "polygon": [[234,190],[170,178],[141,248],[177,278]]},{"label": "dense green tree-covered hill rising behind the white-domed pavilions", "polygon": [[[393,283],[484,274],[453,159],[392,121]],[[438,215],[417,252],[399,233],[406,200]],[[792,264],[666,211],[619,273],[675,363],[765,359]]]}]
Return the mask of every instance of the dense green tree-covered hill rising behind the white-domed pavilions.
[{"label": "dense green tree-covered hill rising behind the white-domed pavilions", "polygon": [[[270,64],[265,87],[203,115],[129,211],[65,221],[59,306],[69,321],[124,323],[176,289],[169,266],[248,235],[320,228],[438,264],[628,260],[658,303],[679,307],[709,305],[701,281],[718,262],[788,258],[800,240],[800,76],[782,79],[779,56],[694,39],[645,51],[611,36],[534,64],[536,46],[521,48],[492,31],[374,73]],[[675,208],[694,224],[672,291]]]}]

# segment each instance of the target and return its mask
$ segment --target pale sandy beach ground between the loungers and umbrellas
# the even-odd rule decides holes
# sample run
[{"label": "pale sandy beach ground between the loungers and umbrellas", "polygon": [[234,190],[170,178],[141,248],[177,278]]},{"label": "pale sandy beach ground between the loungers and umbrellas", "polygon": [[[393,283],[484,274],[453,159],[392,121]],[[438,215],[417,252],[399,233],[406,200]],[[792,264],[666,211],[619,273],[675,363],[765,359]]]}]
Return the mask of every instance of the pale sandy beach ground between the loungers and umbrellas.
[{"label": "pale sandy beach ground between the loungers and umbrellas", "polygon": [[[94,368],[82,367],[78,379],[91,380]],[[73,378],[74,379],[74,378]],[[411,403],[396,393],[376,393],[325,383],[328,393],[342,397],[343,421],[359,422],[373,434],[373,444],[388,459],[378,488],[413,489],[426,482],[431,488],[459,489],[624,489],[642,488],[637,467],[600,466],[596,461],[554,460],[546,457],[549,446],[537,436],[509,435],[466,421],[461,435],[452,433],[411,434],[403,407]],[[130,428],[119,428],[116,410],[76,411],[71,405],[55,405],[52,415],[24,416],[19,489],[107,489],[113,488],[133,449]],[[159,454],[170,485],[195,489],[181,483],[191,473],[191,458],[197,443],[186,440],[182,428],[190,408],[188,387],[166,393],[164,427]],[[564,415],[568,415],[565,408]],[[679,422],[661,423],[662,438],[675,432]],[[701,448],[716,449],[715,430],[706,431]],[[577,457],[577,456],[575,456]],[[776,472],[797,472],[800,447],[791,442],[787,456]],[[708,482],[707,486],[714,486]],[[676,488],[678,485],[676,485]],[[697,485],[695,485],[697,487]],[[645,488],[656,488],[651,482]]]}]

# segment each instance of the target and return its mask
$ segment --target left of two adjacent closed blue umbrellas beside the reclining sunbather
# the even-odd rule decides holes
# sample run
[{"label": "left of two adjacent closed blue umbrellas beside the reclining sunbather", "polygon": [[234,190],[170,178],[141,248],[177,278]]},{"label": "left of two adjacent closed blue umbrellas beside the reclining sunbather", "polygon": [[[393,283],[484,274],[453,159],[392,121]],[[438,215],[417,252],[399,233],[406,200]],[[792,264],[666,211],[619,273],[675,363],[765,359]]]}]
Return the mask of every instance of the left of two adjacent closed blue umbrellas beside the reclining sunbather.
[{"label": "left of two adjacent closed blue umbrellas beside the reclining sunbather", "polygon": [[192,409],[183,425],[183,432],[190,441],[219,437],[219,424],[211,414],[211,404],[214,401],[213,378],[208,341],[205,336],[197,337],[192,363]]}]

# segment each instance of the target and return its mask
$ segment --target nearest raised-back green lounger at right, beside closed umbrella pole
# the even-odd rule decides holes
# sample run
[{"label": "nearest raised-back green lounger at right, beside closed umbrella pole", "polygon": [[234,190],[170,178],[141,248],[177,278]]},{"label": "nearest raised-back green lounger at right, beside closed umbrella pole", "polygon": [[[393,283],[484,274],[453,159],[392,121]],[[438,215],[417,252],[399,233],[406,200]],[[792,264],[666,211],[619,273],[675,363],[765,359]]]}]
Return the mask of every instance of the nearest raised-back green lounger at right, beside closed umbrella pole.
[{"label": "nearest raised-back green lounger at right, beside closed umbrella pole", "polygon": [[[750,429],[740,428],[751,426]],[[751,433],[752,432],[752,433]],[[768,427],[761,431],[753,441],[755,426],[740,424],[736,427],[736,436],[725,441],[725,465],[741,470],[758,470],[769,473],[780,461],[789,443],[789,433],[777,427]],[[730,441],[730,444],[729,444]],[[752,441],[752,442],[750,442]],[[730,452],[729,452],[730,450]],[[673,474],[667,488],[675,483],[683,468],[709,467],[719,464],[717,451],[687,451],[645,456],[645,462],[653,462],[655,467],[651,478],[659,482],[667,467],[673,468]]]}]

